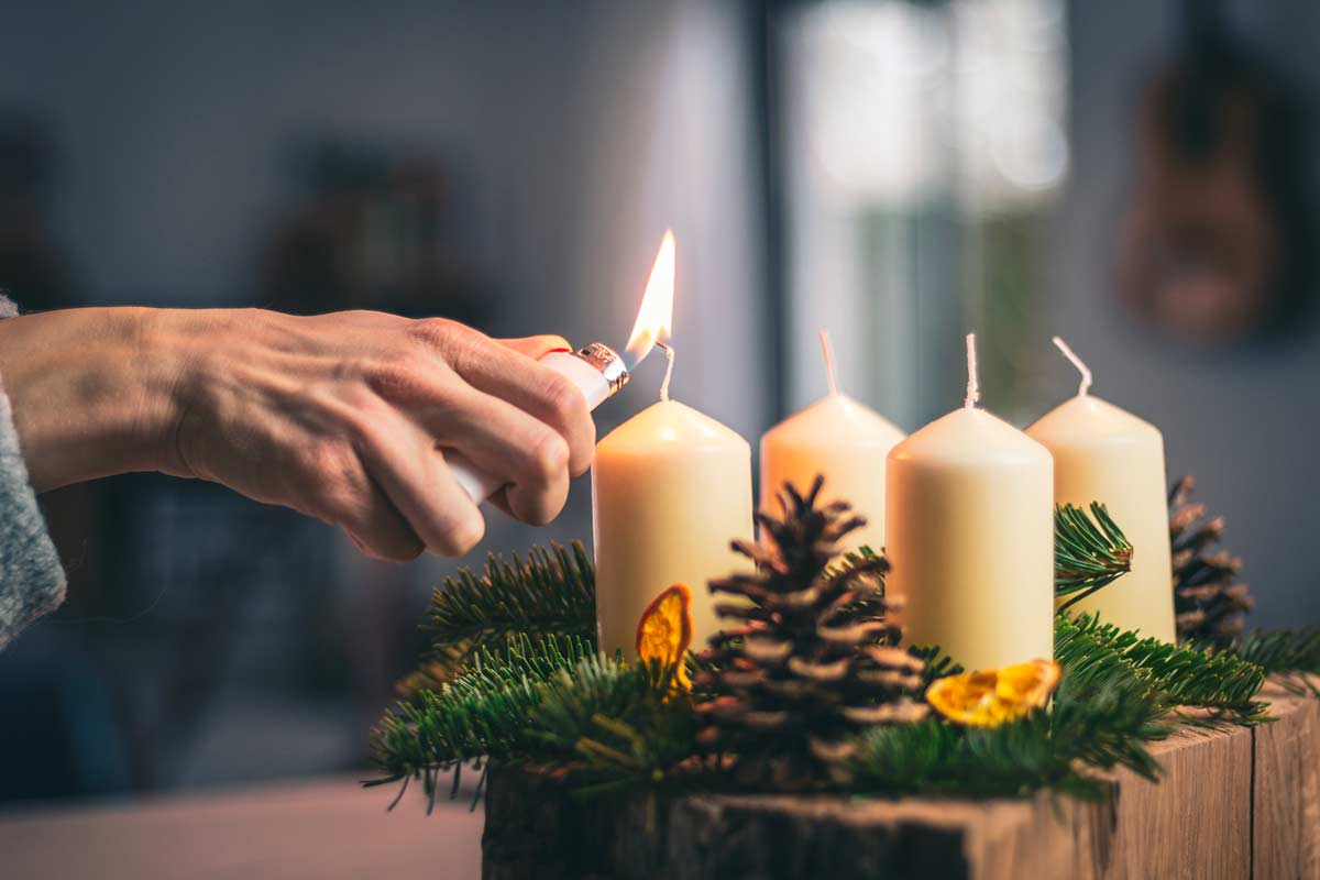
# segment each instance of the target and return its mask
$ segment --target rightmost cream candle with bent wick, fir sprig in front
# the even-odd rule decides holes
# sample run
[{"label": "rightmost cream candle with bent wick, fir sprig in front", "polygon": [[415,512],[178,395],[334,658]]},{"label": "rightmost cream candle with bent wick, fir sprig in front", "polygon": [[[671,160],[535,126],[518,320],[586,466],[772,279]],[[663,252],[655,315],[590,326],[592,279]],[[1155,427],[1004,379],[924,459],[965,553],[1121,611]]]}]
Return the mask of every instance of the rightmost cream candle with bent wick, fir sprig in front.
[{"label": "rightmost cream candle with bent wick, fir sprig in front", "polygon": [[1055,456],[1055,501],[1100,501],[1133,544],[1133,570],[1069,612],[1100,613],[1123,629],[1173,641],[1172,565],[1164,435],[1150,422],[1092,397],[1090,371],[1055,336],[1081,372],[1077,396],[1047,413],[1027,434]]}]

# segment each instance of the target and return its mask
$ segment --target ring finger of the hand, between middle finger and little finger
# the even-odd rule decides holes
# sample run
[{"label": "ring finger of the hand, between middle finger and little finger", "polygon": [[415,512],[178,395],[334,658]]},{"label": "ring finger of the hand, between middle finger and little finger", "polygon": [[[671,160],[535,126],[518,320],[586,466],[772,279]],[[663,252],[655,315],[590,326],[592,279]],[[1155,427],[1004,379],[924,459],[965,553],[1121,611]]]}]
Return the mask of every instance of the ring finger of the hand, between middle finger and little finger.
[{"label": "ring finger of the hand, between middle finger and little finger", "polygon": [[359,427],[358,455],[432,553],[463,555],[486,522],[429,434],[392,410]]}]

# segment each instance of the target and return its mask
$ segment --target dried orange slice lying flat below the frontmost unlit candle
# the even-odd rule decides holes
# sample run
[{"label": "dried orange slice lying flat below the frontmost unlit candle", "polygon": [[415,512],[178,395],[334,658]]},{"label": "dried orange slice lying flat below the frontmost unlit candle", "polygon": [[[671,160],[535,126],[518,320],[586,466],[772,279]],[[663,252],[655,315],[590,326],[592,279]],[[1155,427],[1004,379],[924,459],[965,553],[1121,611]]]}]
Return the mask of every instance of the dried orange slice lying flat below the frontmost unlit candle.
[{"label": "dried orange slice lying flat below the frontmost unlit candle", "polygon": [[925,702],[949,720],[969,727],[998,727],[1040,708],[1059,687],[1059,664],[1026,664],[937,678],[925,689]]}]

